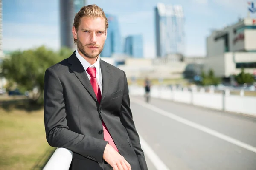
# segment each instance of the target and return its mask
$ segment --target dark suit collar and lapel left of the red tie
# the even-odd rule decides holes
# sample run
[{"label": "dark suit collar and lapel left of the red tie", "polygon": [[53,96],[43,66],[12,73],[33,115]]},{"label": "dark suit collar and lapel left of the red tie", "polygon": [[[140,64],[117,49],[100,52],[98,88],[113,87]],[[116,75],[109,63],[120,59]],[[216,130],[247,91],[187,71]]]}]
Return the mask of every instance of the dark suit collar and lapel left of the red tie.
[{"label": "dark suit collar and lapel left of the red tie", "polygon": [[93,96],[93,98],[97,101],[96,94],[93,91],[93,87],[86,74],[86,71],[84,70],[84,67],[79,61],[79,59],[76,57],[75,52],[68,58],[68,62],[71,64],[70,69],[73,71],[76,77],[80,80],[82,85],[84,85],[84,87],[91,94],[91,96]]}]

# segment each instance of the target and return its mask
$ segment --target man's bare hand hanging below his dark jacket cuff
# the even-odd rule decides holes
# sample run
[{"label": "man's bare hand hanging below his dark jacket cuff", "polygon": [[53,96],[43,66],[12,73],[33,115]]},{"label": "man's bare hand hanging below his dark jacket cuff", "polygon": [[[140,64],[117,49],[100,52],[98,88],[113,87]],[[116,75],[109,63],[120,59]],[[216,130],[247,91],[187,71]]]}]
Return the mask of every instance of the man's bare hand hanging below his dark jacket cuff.
[{"label": "man's bare hand hanging below his dark jacket cuff", "polygon": [[110,144],[105,147],[103,159],[113,167],[113,170],[131,170],[131,165]]}]

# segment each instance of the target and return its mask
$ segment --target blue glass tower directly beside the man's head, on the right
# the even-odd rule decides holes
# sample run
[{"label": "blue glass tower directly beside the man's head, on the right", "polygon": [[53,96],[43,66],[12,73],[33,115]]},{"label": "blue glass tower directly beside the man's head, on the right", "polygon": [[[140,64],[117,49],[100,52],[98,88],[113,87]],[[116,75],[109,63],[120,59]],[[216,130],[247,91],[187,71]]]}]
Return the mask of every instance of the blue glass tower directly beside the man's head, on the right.
[{"label": "blue glass tower directly beside the man's head, on the right", "polygon": [[122,38],[116,16],[106,14],[108,18],[108,34],[100,56],[111,57],[112,54],[122,53]]}]

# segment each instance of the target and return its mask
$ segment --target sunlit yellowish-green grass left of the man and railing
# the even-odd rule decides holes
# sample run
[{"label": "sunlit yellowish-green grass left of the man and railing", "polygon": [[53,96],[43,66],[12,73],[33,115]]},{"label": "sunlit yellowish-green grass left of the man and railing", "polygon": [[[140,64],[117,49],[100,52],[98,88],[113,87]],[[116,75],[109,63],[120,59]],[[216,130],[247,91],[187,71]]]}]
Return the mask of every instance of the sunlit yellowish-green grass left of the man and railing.
[{"label": "sunlit yellowish-green grass left of the man and railing", "polygon": [[42,109],[27,112],[0,108],[0,136],[0,170],[41,169],[42,159],[55,149],[45,138]]}]

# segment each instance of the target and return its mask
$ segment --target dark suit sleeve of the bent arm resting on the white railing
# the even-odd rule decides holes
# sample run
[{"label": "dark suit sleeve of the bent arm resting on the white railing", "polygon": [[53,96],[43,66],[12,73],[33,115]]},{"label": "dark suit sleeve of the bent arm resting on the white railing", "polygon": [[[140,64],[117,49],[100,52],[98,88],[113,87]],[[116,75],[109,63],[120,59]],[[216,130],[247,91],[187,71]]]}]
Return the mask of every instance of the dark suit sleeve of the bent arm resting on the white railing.
[{"label": "dark suit sleeve of the bent arm resting on the white railing", "polygon": [[103,162],[107,142],[69,130],[63,87],[52,68],[44,77],[44,125],[52,147],[64,147],[94,161]]}]

